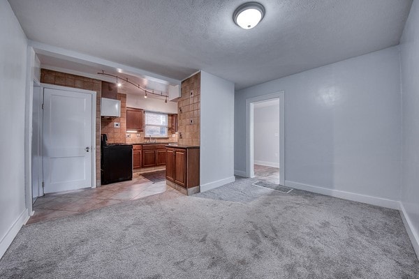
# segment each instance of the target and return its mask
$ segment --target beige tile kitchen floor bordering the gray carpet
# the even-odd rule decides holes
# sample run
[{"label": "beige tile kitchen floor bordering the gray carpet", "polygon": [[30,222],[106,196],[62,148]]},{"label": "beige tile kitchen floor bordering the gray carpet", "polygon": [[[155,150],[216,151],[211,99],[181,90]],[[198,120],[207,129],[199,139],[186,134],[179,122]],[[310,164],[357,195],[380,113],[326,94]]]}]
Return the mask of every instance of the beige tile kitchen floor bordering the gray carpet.
[{"label": "beige tile kitchen floor bordering the gray carpet", "polygon": [[166,191],[165,170],[147,174],[134,173],[131,181],[38,197],[34,203],[34,216],[29,218],[27,224],[100,209],[164,191]]}]

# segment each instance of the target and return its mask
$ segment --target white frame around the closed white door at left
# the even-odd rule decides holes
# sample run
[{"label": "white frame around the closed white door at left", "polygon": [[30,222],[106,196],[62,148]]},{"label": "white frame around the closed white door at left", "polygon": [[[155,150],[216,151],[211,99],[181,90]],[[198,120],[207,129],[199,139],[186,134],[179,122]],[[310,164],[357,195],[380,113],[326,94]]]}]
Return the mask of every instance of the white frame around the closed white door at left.
[{"label": "white frame around the closed white door at left", "polygon": [[[96,188],[96,91],[41,83],[42,103],[44,102],[43,91],[45,88],[91,94],[91,151],[92,151],[90,153],[91,154],[91,188]],[[42,118],[43,118],[43,110],[42,110]],[[41,131],[40,131],[41,142],[43,142],[43,130],[42,130],[43,128],[42,127],[43,125],[41,125]],[[41,150],[41,152],[43,156],[43,149]],[[39,189],[39,193],[42,193],[42,195],[44,195],[42,185],[41,185],[41,189]]]}]

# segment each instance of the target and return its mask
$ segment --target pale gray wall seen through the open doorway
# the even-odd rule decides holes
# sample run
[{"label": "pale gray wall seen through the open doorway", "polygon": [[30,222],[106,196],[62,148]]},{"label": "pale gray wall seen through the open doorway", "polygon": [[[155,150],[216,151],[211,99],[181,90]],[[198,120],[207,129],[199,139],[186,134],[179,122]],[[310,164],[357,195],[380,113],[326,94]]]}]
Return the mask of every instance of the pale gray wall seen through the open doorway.
[{"label": "pale gray wall seen through the open doorway", "polygon": [[254,163],[279,167],[279,103],[267,107],[255,105],[253,134]]}]

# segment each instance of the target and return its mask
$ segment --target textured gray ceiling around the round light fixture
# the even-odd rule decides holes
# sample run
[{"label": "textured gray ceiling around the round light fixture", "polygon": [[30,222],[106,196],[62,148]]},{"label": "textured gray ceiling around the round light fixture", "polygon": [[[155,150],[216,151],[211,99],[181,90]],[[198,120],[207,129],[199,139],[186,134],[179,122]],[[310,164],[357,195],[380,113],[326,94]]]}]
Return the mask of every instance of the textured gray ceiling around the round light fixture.
[{"label": "textured gray ceiling around the round light fixture", "polygon": [[28,38],[177,80],[205,70],[236,89],[397,45],[411,0],[9,0]]}]

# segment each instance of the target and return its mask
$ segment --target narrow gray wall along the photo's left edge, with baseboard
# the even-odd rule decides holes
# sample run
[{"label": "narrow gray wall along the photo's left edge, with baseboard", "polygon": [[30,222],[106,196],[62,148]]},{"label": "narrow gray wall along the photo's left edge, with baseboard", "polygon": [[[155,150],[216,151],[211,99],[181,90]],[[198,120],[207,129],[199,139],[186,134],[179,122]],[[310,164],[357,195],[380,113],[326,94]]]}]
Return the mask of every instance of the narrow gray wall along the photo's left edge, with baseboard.
[{"label": "narrow gray wall along the photo's left edge, with baseboard", "polygon": [[24,189],[24,116],[27,38],[0,1],[0,257],[27,218]]}]

